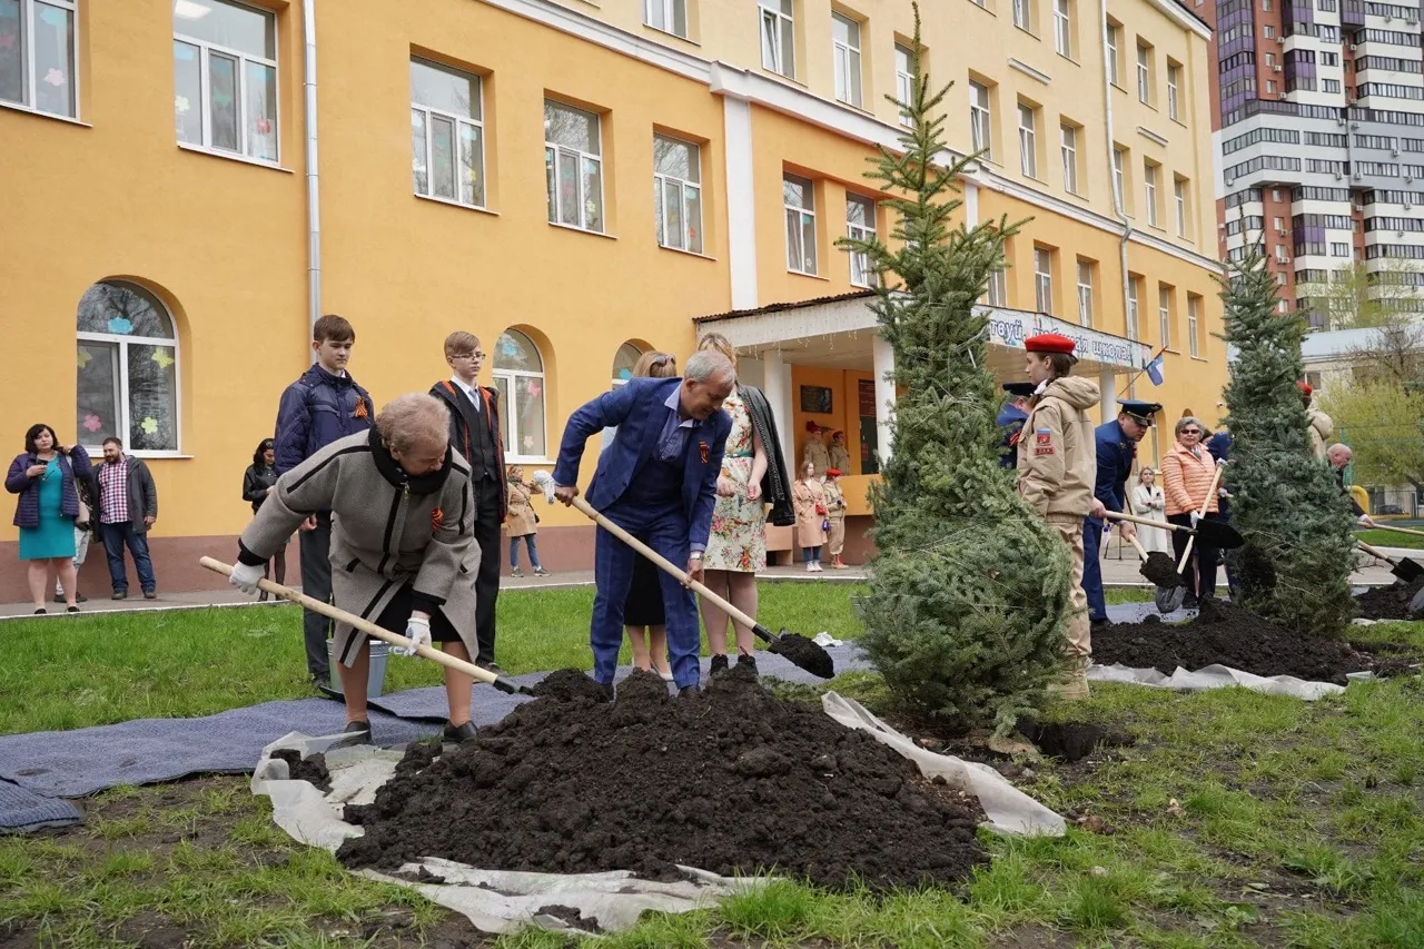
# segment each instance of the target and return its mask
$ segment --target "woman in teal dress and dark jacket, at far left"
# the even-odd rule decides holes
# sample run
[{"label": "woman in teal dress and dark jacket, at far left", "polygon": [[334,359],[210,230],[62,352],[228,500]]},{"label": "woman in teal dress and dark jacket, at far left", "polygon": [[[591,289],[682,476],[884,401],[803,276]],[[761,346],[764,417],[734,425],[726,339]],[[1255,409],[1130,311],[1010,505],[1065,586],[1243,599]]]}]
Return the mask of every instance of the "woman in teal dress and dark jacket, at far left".
[{"label": "woman in teal dress and dark jacket, at far left", "polygon": [[44,613],[51,566],[64,586],[66,611],[80,611],[74,603],[74,522],[80,517],[75,477],[88,479],[93,472],[88,452],[80,445],[60,445],[47,425],[31,425],[24,433],[24,452],[10,462],[4,487],[20,496],[14,526],[20,529],[20,560],[28,561],[36,613]]}]

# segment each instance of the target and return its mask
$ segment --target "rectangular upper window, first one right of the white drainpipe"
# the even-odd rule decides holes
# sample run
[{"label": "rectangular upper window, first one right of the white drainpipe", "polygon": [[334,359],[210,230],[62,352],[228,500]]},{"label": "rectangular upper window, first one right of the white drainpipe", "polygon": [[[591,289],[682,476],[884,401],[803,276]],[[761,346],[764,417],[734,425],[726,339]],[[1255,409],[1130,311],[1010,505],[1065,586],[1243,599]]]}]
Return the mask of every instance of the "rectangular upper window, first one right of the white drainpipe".
[{"label": "rectangular upper window, first one right of the white drainpipe", "polygon": [[480,77],[410,60],[410,168],[416,194],[484,207]]}]

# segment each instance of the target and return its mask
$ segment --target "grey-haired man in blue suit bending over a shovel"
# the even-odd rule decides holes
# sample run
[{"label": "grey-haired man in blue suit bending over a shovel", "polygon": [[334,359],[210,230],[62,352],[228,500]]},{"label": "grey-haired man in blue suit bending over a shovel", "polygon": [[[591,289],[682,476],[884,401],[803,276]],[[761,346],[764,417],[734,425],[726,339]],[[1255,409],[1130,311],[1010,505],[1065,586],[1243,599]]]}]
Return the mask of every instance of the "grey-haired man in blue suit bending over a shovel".
[{"label": "grey-haired man in blue suit bending over a shovel", "polygon": [[[718,352],[688,359],[681,379],[629,379],[628,385],[587,403],[564,426],[554,467],[554,497],[565,504],[578,494],[578,463],[588,437],[617,427],[598,459],[588,503],[672,563],[688,564],[702,579],[702,551],[712,530],[716,479],[732,419],[722,400],[736,386],[736,369]],[[598,529],[594,544],[594,617],[590,644],[594,678],[612,688],[624,636],[624,601],[637,557],[627,544]],[[679,695],[698,691],[701,631],[692,591],[659,573],[668,616],[668,653]]]}]

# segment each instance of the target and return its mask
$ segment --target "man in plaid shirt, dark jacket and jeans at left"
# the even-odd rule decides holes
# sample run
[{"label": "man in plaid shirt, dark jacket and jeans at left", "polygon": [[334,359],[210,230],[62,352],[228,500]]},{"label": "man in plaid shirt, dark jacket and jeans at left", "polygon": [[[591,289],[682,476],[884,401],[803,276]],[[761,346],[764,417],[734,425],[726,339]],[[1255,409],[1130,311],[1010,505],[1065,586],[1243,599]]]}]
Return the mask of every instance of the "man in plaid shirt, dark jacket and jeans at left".
[{"label": "man in plaid shirt, dark jacket and jeans at left", "polygon": [[98,536],[108,559],[114,600],[128,598],[128,570],[124,547],[134,557],[138,587],[145,600],[158,597],[154,563],[148,559],[148,529],[158,520],[158,489],[141,459],[124,455],[117,437],[104,439],[104,463],[98,467]]}]

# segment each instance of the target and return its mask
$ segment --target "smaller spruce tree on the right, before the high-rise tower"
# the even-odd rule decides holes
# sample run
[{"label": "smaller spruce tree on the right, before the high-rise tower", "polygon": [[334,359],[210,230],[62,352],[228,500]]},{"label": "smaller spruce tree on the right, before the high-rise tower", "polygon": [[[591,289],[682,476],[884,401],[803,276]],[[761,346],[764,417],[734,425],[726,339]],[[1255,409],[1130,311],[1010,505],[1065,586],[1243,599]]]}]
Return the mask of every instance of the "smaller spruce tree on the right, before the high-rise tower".
[{"label": "smaller spruce tree on the right, before the high-rise tower", "polygon": [[1226,386],[1232,435],[1232,523],[1246,539],[1237,563],[1242,606],[1280,626],[1339,636],[1354,614],[1350,510],[1334,473],[1310,455],[1300,342],[1306,323],[1276,309],[1276,281],[1252,247],[1222,282],[1236,348]]}]

